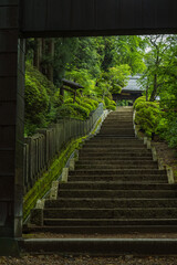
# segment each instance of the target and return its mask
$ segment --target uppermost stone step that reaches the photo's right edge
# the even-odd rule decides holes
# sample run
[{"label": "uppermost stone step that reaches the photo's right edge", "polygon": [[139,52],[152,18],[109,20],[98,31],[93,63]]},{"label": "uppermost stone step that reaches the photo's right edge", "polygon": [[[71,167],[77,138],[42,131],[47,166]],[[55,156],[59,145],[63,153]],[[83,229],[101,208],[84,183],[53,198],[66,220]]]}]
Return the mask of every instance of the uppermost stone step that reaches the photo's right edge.
[{"label": "uppermost stone step that reaches the photo's right edge", "polygon": [[171,190],[177,191],[177,184],[124,181],[69,181],[60,184],[60,190]]}]

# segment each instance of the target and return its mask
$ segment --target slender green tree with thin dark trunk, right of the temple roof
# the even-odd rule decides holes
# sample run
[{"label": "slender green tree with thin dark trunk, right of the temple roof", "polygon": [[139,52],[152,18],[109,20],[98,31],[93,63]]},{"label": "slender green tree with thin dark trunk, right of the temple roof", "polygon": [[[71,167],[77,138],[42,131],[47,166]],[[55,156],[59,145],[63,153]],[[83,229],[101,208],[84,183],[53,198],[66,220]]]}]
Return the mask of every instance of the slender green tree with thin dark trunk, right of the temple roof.
[{"label": "slender green tree with thin dark trunk, right of the temple roof", "polygon": [[[147,98],[153,102],[160,96],[171,68],[171,36],[150,35],[145,38],[148,46],[145,54],[146,71],[140,83],[147,91]],[[168,75],[168,77],[167,77]]]}]

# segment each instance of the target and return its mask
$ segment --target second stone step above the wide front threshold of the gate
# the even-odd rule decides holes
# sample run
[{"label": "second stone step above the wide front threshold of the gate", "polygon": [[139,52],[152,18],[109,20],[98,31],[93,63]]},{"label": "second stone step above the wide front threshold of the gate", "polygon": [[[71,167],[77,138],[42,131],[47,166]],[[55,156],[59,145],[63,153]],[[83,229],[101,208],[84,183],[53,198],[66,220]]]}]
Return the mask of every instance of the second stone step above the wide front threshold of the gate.
[{"label": "second stone step above the wide front threshold of the gate", "polygon": [[[177,219],[176,218],[152,218],[152,219],[44,219],[44,225],[58,225],[58,226],[87,226],[94,227],[98,230],[101,226],[106,226],[105,231],[108,233],[108,230],[113,226],[119,225],[119,231],[122,226],[127,225],[177,225]],[[138,230],[138,229],[137,229]],[[82,231],[81,231],[82,233]]]}]

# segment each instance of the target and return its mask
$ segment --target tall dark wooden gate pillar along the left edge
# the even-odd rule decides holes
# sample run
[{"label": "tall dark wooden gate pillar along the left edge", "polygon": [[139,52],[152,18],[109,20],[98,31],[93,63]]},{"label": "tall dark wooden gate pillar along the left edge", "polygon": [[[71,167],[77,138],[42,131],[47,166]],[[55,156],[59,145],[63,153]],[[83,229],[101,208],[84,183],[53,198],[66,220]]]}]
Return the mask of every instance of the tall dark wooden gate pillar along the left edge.
[{"label": "tall dark wooden gate pillar along the left edge", "polygon": [[24,41],[18,38],[19,0],[1,0],[0,254],[4,255],[14,250],[7,240],[12,242],[22,234]]}]

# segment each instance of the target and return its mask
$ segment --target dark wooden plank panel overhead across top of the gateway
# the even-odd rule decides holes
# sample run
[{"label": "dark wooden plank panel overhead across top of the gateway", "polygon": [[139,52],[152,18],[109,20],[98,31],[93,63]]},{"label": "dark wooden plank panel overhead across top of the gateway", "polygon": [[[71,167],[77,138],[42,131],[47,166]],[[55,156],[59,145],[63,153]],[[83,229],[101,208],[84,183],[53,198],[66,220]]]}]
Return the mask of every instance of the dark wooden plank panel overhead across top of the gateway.
[{"label": "dark wooden plank panel overhead across top of the gateway", "polygon": [[177,32],[176,0],[23,0],[25,36]]}]

